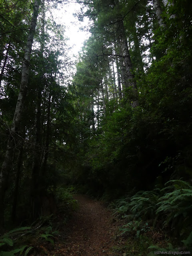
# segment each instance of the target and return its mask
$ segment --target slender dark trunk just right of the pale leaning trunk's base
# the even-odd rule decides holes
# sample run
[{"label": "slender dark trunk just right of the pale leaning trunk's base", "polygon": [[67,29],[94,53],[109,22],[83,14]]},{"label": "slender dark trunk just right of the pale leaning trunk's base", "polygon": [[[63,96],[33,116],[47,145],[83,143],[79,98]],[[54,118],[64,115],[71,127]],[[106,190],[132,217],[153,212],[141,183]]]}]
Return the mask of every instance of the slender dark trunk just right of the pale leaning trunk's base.
[{"label": "slender dark trunk just right of the pale leaning trunk's base", "polygon": [[19,153],[18,164],[17,164],[16,182],[15,182],[15,190],[14,190],[12,214],[11,214],[11,219],[13,224],[16,221],[16,208],[17,208],[18,194],[19,194],[19,181],[21,177],[22,164],[23,164],[23,144],[24,144],[24,140],[21,141],[20,153]]}]

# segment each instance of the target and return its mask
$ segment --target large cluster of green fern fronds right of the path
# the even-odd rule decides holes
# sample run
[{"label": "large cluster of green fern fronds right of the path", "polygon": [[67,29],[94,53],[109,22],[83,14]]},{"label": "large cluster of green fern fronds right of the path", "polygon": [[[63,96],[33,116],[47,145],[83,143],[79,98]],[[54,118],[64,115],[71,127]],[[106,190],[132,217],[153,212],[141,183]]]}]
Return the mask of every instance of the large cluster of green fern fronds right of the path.
[{"label": "large cluster of green fern fronds right of the path", "polygon": [[138,235],[146,220],[153,220],[153,226],[159,220],[163,228],[168,228],[173,236],[186,239],[192,231],[192,186],[183,180],[170,180],[163,189],[139,191],[132,197],[116,201],[116,216],[124,218],[127,224],[122,233]]}]

